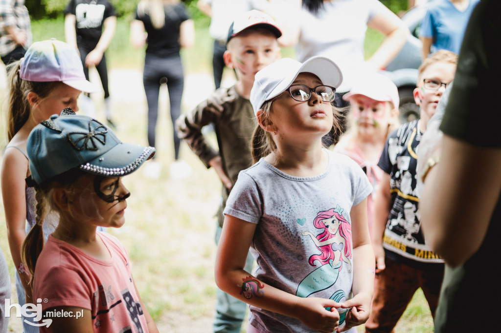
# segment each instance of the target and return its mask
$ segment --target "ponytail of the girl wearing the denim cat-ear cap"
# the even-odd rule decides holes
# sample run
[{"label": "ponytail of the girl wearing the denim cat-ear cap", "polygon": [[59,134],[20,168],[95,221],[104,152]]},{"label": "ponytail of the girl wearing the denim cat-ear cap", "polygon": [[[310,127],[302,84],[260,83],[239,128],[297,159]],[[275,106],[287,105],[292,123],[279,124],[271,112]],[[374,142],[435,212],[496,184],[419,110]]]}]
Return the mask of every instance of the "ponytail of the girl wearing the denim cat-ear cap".
[{"label": "ponytail of the girl wearing the denim cat-ear cap", "polygon": [[23,263],[28,267],[31,274],[30,284],[33,287],[33,278],[35,276],[35,266],[37,260],[44,248],[44,220],[47,214],[47,194],[39,187],[36,189],[35,198],[37,204],[35,206],[36,216],[35,225],[31,228],[30,232],[23,241],[21,246],[21,256]]}]

